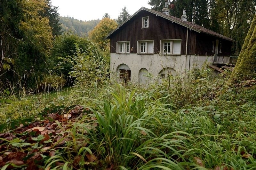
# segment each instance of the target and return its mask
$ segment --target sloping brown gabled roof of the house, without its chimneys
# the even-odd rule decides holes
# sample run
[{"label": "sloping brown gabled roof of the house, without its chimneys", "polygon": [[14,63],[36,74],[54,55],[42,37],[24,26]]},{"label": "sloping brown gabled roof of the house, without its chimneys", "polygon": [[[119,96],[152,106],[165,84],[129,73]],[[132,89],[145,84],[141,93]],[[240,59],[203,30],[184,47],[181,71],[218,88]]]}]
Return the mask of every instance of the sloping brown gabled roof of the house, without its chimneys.
[{"label": "sloping brown gabled roof of the house, without its chimneys", "polygon": [[196,25],[195,23],[192,23],[192,22],[189,22],[189,21],[184,21],[184,20],[182,20],[182,19],[180,19],[180,18],[176,18],[176,17],[173,17],[173,16],[171,16],[171,15],[165,15],[165,14],[163,14],[163,13],[161,13],[161,12],[154,11],[154,10],[150,10],[150,9],[148,9],[148,8],[145,8],[145,7],[141,7],[137,12],[135,12],[135,13],[134,13],[132,16],[130,16],[126,21],[124,21],[123,24],[118,25],[118,27],[117,27],[115,30],[113,30],[112,32],[110,32],[110,33],[105,37],[105,39],[108,38],[112,33],[116,32],[116,30],[118,30],[122,25],[124,25],[127,21],[129,21],[131,18],[133,18],[136,14],[138,14],[138,13],[139,13],[140,11],[142,11],[142,10],[145,10],[145,11],[151,12],[151,13],[153,13],[153,14],[156,14],[156,16],[160,16],[160,17],[163,17],[163,18],[165,18],[165,19],[168,19],[168,20],[170,20],[170,21],[172,21],[172,22],[174,22],[174,23],[177,23],[177,24],[179,24],[179,25],[182,25],[182,26],[184,26],[184,27],[187,27],[187,28],[189,28],[189,29],[191,29],[191,30],[193,30],[193,31],[196,31],[196,32],[199,32],[199,33],[201,33],[201,32],[202,32],[202,33],[206,33],[206,34],[209,34],[209,35],[212,35],[212,36],[221,38],[221,39],[226,39],[226,40],[229,40],[229,41],[232,41],[232,42],[236,42],[236,41],[233,40],[233,39],[230,39],[230,38],[228,38],[228,37],[226,37],[226,36],[224,36],[224,35],[221,35],[221,34],[219,34],[219,33],[217,33],[217,32],[214,32],[214,31],[211,31],[211,30],[209,30],[209,29],[206,29],[206,28],[204,28],[204,27],[202,27],[202,26]]}]

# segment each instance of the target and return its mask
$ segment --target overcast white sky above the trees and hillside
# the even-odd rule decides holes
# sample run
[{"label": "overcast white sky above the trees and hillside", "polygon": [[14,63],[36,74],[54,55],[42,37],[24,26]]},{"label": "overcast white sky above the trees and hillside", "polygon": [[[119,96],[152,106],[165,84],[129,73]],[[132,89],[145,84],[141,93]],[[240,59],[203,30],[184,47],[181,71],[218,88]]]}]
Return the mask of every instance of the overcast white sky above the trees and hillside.
[{"label": "overcast white sky above the trees and hillside", "polygon": [[148,0],[52,0],[52,6],[59,7],[62,17],[74,17],[83,21],[102,19],[108,13],[111,19],[116,19],[124,6],[132,15],[141,7],[151,9]]}]

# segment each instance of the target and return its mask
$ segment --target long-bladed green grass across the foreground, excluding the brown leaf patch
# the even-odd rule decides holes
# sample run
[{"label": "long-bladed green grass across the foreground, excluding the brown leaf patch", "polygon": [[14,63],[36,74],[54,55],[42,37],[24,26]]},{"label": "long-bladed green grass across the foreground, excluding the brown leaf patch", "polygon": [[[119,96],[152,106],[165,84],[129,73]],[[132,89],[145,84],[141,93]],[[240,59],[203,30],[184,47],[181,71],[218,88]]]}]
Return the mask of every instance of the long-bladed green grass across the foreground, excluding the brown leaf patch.
[{"label": "long-bladed green grass across the foreground, excluding the brown leaf patch", "polygon": [[[225,78],[212,78],[210,70],[147,88],[108,81],[80,85],[51,102],[83,105],[90,114],[63,128],[58,135],[66,142],[55,144],[58,154],[47,158],[44,168],[256,168],[254,87],[229,85]],[[58,161],[63,164],[55,166]]]}]

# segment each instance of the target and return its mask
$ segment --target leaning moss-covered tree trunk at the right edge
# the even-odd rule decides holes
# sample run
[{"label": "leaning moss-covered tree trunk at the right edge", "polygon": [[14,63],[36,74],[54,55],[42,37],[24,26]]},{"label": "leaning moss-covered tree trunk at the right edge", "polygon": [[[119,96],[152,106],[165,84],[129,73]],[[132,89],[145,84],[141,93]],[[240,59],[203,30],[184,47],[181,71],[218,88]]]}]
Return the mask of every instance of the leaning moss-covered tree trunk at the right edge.
[{"label": "leaning moss-covered tree trunk at the right edge", "polygon": [[251,27],[244,40],[244,45],[238,56],[236,66],[231,74],[231,79],[249,79],[255,74],[256,69],[256,14]]}]

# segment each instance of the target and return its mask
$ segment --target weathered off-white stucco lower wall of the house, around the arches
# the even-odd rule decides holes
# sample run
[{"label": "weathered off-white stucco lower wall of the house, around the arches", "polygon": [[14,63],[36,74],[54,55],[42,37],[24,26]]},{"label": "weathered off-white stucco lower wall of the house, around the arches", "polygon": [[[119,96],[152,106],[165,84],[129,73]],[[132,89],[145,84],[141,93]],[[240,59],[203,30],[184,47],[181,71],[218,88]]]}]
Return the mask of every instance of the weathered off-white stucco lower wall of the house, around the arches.
[{"label": "weathered off-white stucco lower wall of the house, around the arches", "polygon": [[[190,67],[189,67],[190,58]],[[116,81],[120,81],[116,74],[117,67],[121,64],[126,64],[131,69],[131,81],[139,82],[139,73],[142,68],[148,70],[152,77],[158,76],[158,73],[164,68],[173,68],[179,74],[183,74],[185,70],[196,67],[201,67],[205,61],[212,63],[213,57],[206,56],[185,56],[185,55],[159,55],[159,54],[110,54],[110,74],[111,77],[116,77]],[[154,81],[148,80],[148,81]]]}]

